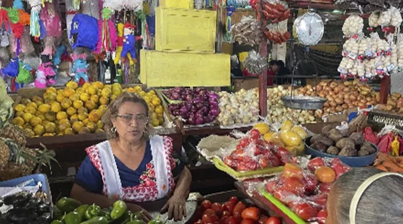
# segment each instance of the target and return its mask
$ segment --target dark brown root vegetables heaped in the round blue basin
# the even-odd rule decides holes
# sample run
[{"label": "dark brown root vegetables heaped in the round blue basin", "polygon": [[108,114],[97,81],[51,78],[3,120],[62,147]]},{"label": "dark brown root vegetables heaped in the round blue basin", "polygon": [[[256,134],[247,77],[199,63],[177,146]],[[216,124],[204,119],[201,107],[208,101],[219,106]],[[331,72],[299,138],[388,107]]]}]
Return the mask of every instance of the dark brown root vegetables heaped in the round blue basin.
[{"label": "dark brown root vegetables heaped in the round blue basin", "polygon": [[327,125],[323,127],[321,134],[310,139],[310,146],[322,153],[345,157],[368,156],[376,152],[362,132],[354,132],[350,136],[347,131],[343,132]]}]

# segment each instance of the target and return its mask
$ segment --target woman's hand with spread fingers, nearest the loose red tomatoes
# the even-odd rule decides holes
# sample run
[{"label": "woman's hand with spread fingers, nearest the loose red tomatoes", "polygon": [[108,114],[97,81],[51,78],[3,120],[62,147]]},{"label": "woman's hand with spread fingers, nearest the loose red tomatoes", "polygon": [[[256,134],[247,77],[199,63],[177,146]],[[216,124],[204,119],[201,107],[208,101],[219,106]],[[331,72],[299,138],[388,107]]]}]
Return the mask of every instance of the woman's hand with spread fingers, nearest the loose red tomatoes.
[{"label": "woman's hand with spread fingers, nearest the loose red tomatoes", "polygon": [[186,199],[180,195],[174,194],[162,207],[161,212],[168,210],[168,219],[174,218],[175,221],[186,217]]}]

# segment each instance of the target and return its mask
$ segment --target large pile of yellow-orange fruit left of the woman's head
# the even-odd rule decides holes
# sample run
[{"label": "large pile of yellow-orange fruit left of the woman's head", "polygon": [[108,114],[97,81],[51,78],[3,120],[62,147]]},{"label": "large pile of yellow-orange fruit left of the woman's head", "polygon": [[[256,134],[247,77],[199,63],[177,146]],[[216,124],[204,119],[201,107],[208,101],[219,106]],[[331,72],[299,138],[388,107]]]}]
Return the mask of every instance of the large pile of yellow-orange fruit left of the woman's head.
[{"label": "large pile of yellow-orange fruit left of the woman's head", "polygon": [[120,84],[69,82],[64,89],[46,89],[43,98],[24,98],[16,105],[13,124],[30,137],[103,132],[101,117],[108,103],[123,92]]}]

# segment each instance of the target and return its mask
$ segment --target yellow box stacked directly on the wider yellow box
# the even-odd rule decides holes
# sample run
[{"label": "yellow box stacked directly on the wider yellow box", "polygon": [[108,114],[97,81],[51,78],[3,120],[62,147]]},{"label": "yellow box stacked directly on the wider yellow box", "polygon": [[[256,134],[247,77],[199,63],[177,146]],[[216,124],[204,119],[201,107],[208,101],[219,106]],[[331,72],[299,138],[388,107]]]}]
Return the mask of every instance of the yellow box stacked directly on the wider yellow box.
[{"label": "yellow box stacked directly on the wider yellow box", "polygon": [[155,49],[159,51],[215,52],[215,11],[155,9]]}]

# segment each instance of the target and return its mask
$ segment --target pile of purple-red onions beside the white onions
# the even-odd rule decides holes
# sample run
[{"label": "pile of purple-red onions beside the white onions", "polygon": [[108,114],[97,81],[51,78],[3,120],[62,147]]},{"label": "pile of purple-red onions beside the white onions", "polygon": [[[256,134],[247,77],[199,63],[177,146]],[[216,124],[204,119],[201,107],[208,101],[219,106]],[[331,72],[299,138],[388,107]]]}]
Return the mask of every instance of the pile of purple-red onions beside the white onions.
[{"label": "pile of purple-red onions beside the white onions", "polygon": [[219,114],[217,93],[204,88],[193,90],[176,87],[163,92],[170,100],[181,100],[178,104],[170,104],[172,115],[180,116],[185,124],[199,125],[213,122]]}]

